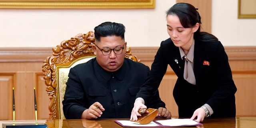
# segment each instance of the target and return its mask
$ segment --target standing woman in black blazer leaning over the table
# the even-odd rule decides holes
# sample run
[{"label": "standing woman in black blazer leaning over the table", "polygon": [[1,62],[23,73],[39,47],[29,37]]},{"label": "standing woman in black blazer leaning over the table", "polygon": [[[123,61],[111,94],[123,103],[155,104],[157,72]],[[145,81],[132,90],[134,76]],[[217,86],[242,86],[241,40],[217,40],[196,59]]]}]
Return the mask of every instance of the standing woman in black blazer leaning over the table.
[{"label": "standing woman in black blazer leaning over the table", "polygon": [[180,118],[235,117],[236,86],[228,56],[214,35],[200,32],[201,17],[191,4],[177,3],[167,12],[170,36],[160,44],[150,75],[136,96],[131,119],[157,90],[167,66],[178,76],[173,96]]}]

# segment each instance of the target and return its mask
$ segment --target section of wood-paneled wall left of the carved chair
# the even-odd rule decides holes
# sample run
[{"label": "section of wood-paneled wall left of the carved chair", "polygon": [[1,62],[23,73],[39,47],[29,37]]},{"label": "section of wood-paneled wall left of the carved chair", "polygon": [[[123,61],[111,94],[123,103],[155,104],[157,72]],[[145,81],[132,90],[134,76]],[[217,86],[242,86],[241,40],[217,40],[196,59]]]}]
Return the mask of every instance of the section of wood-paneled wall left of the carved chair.
[{"label": "section of wood-paneled wall left of the carved chair", "polygon": [[12,120],[12,87],[16,120],[34,120],[34,87],[38,119],[48,119],[49,97],[42,62],[51,48],[0,48],[0,120]]}]

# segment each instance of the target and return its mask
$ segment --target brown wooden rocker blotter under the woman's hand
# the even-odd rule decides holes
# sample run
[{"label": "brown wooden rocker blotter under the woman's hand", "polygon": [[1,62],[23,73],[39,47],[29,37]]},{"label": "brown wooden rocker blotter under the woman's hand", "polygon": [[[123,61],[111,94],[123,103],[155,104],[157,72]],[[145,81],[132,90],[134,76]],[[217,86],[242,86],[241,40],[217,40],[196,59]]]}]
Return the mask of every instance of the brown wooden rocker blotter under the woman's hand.
[{"label": "brown wooden rocker blotter under the woman's hand", "polygon": [[138,116],[138,120],[134,122],[138,122],[140,124],[148,124],[152,122],[156,118],[157,109],[148,108],[147,110],[148,110],[148,113],[141,114],[141,116]]}]

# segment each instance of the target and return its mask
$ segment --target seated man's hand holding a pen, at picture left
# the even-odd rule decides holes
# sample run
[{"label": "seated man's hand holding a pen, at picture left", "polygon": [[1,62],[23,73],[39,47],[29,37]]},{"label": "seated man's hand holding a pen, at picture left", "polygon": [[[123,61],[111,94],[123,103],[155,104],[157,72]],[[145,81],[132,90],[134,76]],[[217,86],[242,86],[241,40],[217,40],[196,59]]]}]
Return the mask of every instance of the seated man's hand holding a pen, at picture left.
[{"label": "seated man's hand holding a pen, at picture left", "polygon": [[81,119],[96,119],[102,115],[103,111],[105,108],[99,102],[95,102],[90,108],[84,110]]}]

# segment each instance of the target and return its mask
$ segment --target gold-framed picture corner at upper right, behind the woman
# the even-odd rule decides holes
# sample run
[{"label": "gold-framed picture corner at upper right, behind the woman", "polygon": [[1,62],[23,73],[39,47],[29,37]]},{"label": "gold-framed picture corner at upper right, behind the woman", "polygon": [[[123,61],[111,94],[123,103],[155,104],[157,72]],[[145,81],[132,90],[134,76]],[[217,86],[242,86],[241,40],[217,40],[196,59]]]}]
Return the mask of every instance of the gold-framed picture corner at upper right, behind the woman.
[{"label": "gold-framed picture corner at upper right, behind the woman", "polygon": [[255,0],[238,0],[238,18],[256,18]]}]

